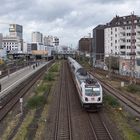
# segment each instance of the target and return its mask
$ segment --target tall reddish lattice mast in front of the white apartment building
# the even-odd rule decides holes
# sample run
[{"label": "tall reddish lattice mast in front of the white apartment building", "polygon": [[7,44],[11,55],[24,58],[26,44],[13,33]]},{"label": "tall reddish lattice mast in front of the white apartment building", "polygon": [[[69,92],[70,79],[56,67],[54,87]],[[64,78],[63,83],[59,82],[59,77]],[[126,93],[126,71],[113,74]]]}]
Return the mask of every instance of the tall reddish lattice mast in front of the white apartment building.
[{"label": "tall reddish lattice mast in front of the white apartment building", "polygon": [[130,76],[130,84],[135,83],[135,56],[136,56],[136,46],[135,46],[135,28],[136,25],[134,23],[136,19],[136,16],[134,15],[134,13],[131,14],[131,52],[130,52],[130,70],[131,70],[131,76]]}]

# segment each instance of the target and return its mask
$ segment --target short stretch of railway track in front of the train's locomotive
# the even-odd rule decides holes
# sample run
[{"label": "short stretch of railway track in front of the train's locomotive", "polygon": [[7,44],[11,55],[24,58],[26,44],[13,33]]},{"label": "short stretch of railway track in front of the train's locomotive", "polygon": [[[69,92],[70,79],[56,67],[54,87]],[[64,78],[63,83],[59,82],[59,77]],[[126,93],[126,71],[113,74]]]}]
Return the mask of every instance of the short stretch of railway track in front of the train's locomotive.
[{"label": "short stretch of railway track in front of the train's locomotive", "polygon": [[99,113],[88,113],[88,117],[95,140],[113,140],[107,126],[101,120]]}]

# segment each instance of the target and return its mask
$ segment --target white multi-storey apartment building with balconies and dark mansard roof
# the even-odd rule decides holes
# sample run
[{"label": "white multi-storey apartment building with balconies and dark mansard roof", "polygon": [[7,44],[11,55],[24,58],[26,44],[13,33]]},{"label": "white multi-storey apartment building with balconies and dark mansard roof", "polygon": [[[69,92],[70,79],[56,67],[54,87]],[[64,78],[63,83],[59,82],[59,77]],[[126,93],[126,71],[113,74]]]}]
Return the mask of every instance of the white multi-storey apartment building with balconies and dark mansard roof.
[{"label": "white multi-storey apartment building with balconies and dark mansard roof", "polygon": [[[134,24],[134,26],[132,26]],[[134,29],[133,29],[134,28]],[[133,29],[133,33],[132,33]],[[133,40],[132,40],[133,36]],[[140,70],[140,17],[128,15],[114,17],[104,30],[105,56],[119,56],[120,69],[131,71],[131,57],[135,55],[135,70]],[[135,46],[132,48],[132,42]],[[132,54],[135,49],[135,54]]]}]

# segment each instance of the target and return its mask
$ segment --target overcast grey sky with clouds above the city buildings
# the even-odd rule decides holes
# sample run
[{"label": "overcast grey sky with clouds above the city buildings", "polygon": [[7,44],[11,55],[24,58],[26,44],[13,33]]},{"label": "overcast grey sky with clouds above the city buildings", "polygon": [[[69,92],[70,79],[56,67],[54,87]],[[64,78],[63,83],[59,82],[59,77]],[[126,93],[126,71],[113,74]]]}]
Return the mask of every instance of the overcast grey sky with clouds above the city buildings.
[{"label": "overcast grey sky with clouds above the city buildings", "polygon": [[[140,16],[140,0],[3,0],[0,23],[23,25],[26,42],[31,41],[33,31],[40,31],[75,47],[98,24],[133,11]],[[0,24],[0,32],[8,34],[8,27]]]}]

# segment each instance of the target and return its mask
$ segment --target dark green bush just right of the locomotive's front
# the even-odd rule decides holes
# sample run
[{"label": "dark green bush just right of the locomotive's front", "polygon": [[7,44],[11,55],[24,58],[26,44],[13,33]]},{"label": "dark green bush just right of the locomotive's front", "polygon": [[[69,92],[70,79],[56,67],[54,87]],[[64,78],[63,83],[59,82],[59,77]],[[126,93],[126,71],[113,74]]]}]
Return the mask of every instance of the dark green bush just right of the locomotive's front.
[{"label": "dark green bush just right of the locomotive's front", "polygon": [[120,104],[118,102],[118,100],[110,95],[105,95],[104,96],[104,101],[105,104],[110,105],[113,108],[119,107]]}]

